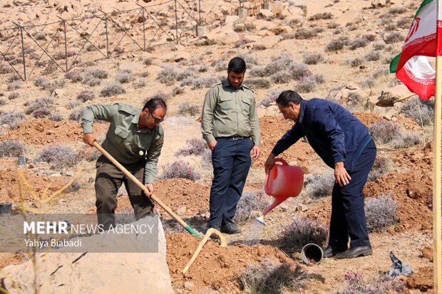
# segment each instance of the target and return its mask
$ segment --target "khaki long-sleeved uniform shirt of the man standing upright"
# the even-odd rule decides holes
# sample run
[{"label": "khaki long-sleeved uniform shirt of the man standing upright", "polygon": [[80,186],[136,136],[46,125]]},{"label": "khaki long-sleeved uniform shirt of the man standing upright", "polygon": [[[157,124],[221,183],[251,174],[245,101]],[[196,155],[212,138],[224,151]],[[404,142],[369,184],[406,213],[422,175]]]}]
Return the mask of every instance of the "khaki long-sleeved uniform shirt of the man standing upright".
[{"label": "khaki long-sleeved uniform shirt of the man standing upright", "polygon": [[245,85],[235,89],[228,80],[210,88],[202,106],[201,132],[209,143],[216,137],[252,137],[259,146],[259,120],[253,90]]}]

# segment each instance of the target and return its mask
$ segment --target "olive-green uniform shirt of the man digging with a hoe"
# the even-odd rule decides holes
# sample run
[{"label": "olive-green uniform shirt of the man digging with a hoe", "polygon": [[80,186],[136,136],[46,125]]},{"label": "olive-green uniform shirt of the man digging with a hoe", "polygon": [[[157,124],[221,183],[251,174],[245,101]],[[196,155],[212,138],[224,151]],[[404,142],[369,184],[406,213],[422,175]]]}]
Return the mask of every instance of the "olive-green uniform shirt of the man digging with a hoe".
[{"label": "olive-green uniform shirt of the man digging with a hoe", "polygon": [[154,129],[139,128],[140,108],[115,103],[113,105],[89,105],[83,110],[81,126],[85,134],[93,132],[93,120],[111,122],[103,148],[121,164],[133,164],[145,160],[145,184],[153,183],[158,157],[164,142],[161,125]]}]

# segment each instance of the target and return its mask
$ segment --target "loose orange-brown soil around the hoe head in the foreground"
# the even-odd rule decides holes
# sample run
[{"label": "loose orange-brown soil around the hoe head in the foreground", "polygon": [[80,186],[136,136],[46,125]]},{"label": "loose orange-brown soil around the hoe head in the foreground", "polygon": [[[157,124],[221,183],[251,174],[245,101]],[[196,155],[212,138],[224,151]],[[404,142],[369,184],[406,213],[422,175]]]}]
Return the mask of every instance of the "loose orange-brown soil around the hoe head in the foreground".
[{"label": "loose orange-brown soil around the hoe head in the foreground", "polygon": [[[219,293],[240,293],[237,276],[251,263],[260,263],[264,259],[276,259],[296,266],[296,263],[272,246],[235,246],[220,247],[215,241],[207,241],[189,271],[182,271],[192,258],[201,239],[190,234],[170,234],[166,236],[168,244],[167,261],[173,288],[183,289],[182,293],[201,293],[204,290],[218,290]],[[185,286],[186,282],[187,285]],[[189,284],[191,285],[189,287]]]}]

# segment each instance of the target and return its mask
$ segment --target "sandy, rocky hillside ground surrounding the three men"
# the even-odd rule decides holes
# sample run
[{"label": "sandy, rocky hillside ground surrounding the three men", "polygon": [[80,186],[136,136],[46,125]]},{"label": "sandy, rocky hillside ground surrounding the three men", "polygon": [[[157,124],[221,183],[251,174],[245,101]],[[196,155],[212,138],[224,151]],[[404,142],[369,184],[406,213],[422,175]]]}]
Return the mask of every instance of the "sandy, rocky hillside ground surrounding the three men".
[{"label": "sandy, rocky hillside ground surrounding the three men", "polygon": [[[4,30],[13,27],[11,20],[21,25],[40,25],[60,21],[56,16],[73,19],[98,14],[98,9],[108,13],[137,9],[139,6],[136,4],[135,1],[110,0],[75,0],[68,3],[0,0],[0,51],[22,75],[20,41],[14,38],[16,31]],[[245,187],[247,192],[262,191],[262,168],[267,154],[292,126],[292,123],[283,120],[277,107],[269,101],[274,98],[275,91],[295,89],[307,99],[321,97],[336,101],[354,112],[369,127],[378,122],[394,122],[406,134],[418,134],[419,140],[407,147],[377,142],[378,157],[390,159],[392,167],[366,184],[364,196],[368,200],[389,195],[396,201],[397,209],[394,224],[371,233],[373,256],[351,261],[328,258],[319,265],[305,266],[299,251],[289,251],[282,246],[284,229],[298,216],[328,226],[330,194],[314,198],[306,187],[297,198],[288,199],[269,213],[263,228],[257,230],[252,218],[240,224],[242,233],[227,236],[227,248],[209,241],[190,270],[183,275],[181,271],[199,240],[185,233],[163,209],[158,208],[167,233],[167,261],[175,292],[241,293],[245,291],[240,283],[242,271],[253,263],[270,261],[286,265],[287,271],[302,273],[299,275],[299,288],[292,289],[296,293],[336,293],[346,288],[346,278],[351,273],[362,273],[366,284],[379,281],[379,277],[389,271],[389,253],[393,251],[414,271],[409,278],[400,278],[404,283],[402,292],[432,293],[432,125],[426,122],[422,127],[418,123],[420,120],[413,120],[415,117],[410,112],[402,112],[406,102],[396,103],[391,108],[374,106],[381,96],[399,98],[408,93],[387,69],[391,58],[400,51],[419,1],[270,1],[268,7],[259,6],[256,11],[251,8],[260,3],[245,2],[245,7],[250,8],[250,16],[245,19],[234,15],[237,8],[234,2],[219,1],[214,6],[215,1],[203,1],[203,16],[207,14],[210,21],[218,21],[207,24],[205,36],[188,35],[178,44],[168,40],[175,33],[174,17],[168,13],[168,2],[140,1],[138,4],[153,5],[148,9],[153,17],[145,23],[147,35],[153,36],[155,31],[160,31],[151,43],[149,38],[150,48],[146,52],[140,51],[128,36],[118,43],[123,30],[112,24],[109,26],[113,36],[111,49],[117,48],[117,45],[123,49],[116,49],[111,58],[103,58],[98,49],[106,51],[104,27],[95,18],[78,20],[68,26],[72,25],[79,33],[68,29],[66,43],[71,51],[68,65],[74,68],[67,74],[61,70],[65,56],[59,53],[64,50],[64,39],[60,34],[63,30],[58,31],[59,23],[27,28],[29,35],[24,36],[27,74],[36,67],[26,82],[14,78],[10,65],[0,59],[0,201],[12,202],[14,213],[19,213],[21,201],[38,207],[31,191],[40,196],[50,194],[76,176],[77,188],[57,197],[51,212],[95,213],[93,179],[97,152],[81,142],[78,113],[83,106],[91,104],[120,102],[140,106],[146,98],[159,95],[168,101],[168,116],[163,122],[165,145],[158,164],[155,195],[192,227],[204,233],[209,216],[212,171],[207,168],[207,159],[195,155],[178,157],[175,153],[187,145],[186,140],[200,138],[200,111],[207,88],[225,76],[230,58],[242,55],[249,68],[246,83],[249,81],[255,89],[259,103],[262,131],[262,156],[252,164]],[[187,9],[192,5],[190,1],[183,1],[183,5],[178,6],[180,29],[192,28],[195,24],[197,11]],[[193,11],[192,17],[187,17],[185,11]],[[130,36],[135,41],[143,42],[142,20],[139,21],[137,12],[115,12],[111,16],[114,23],[130,30]],[[185,22],[186,18],[192,21]],[[162,23],[164,31],[158,30],[158,23]],[[96,26],[97,32],[94,33]],[[55,35],[57,31],[58,35]],[[43,35],[37,37],[37,33]],[[84,39],[79,37],[80,33],[91,36],[90,41],[97,48],[89,46],[83,51]],[[54,68],[51,58],[42,54],[41,48],[29,36],[39,38],[38,45],[42,48],[47,46],[51,56],[61,56],[56,59],[61,68]],[[51,43],[52,38],[54,43]],[[9,47],[13,50],[8,51]],[[38,61],[40,55],[43,58]],[[98,75],[98,70],[104,70],[106,77]],[[120,83],[122,92],[103,94],[109,84],[116,82]],[[83,91],[88,91],[87,96]],[[40,101],[40,106],[36,107],[37,98],[43,97],[52,100],[46,103]],[[190,103],[195,111],[183,111],[185,102]],[[425,106],[423,103],[420,105]],[[36,109],[39,112],[34,113]],[[425,109],[422,108],[424,120],[427,115]],[[413,108],[412,112],[416,113],[417,108]],[[102,140],[107,123],[96,122],[94,127]],[[19,142],[23,147],[7,145],[7,140]],[[57,144],[73,148],[78,154],[75,164],[59,166],[36,160],[45,147]],[[12,149],[14,154],[8,152]],[[29,189],[19,189],[20,178],[16,169],[19,155],[29,159],[26,168],[19,169],[29,183]],[[281,156],[289,164],[302,167],[306,186],[307,179],[329,172],[329,167],[302,140]],[[165,168],[176,160],[190,164],[201,177],[164,179]],[[266,201],[272,200],[270,196],[264,197]],[[131,211],[130,203],[125,190],[120,189],[117,213],[127,211]],[[250,241],[259,241],[259,244],[250,245]],[[19,253],[1,253],[0,268],[23,263],[27,259]]]}]

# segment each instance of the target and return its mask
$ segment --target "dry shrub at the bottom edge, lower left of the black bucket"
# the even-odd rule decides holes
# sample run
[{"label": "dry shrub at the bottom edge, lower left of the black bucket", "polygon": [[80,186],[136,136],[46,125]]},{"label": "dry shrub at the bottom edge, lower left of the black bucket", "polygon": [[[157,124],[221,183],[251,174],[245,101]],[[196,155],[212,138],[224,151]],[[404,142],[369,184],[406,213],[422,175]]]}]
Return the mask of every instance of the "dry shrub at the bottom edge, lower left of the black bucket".
[{"label": "dry shrub at the bottom edge, lower left of the black bucket", "polygon": [[301,268],[293,269],[289,263],[264,259],[262,263],[248,265],[238,277],[244,293],[279,294],[302,288],[309,276]]}]

